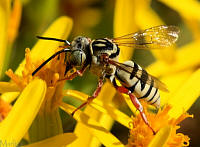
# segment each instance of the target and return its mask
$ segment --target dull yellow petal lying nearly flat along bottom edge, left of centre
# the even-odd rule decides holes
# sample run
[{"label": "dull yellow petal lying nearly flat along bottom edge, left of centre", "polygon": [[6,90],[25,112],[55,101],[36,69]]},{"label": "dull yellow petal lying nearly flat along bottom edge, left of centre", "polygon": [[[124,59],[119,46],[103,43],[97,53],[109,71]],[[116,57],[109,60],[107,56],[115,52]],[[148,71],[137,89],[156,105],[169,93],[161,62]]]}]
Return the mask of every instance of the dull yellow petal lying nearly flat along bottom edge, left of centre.
[{"label": "dull yellow petal lying nearly flat along bottom edge, left of centre", "polygon": [[64,133],[60,135],[56,135],[54,137],[42,140],[40,142],[36,142],[30,145],[26,145],[24,147],[61,147],[68,146],[73,141],[77,139],[74,133]]}]

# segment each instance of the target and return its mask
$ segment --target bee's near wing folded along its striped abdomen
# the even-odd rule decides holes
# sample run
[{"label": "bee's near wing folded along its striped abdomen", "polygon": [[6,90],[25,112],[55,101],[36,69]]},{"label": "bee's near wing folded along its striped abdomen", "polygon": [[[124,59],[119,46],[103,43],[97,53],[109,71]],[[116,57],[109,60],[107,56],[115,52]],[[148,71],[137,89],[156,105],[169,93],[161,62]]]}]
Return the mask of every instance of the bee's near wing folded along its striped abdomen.
[{"label": "bee's near wing folded along its striped abdomen", "polygon": [[167,86],[163,82],[161,82],[156,77],[147,73],[144,69],[138,69],[138,68],[135,69],[134,67],[132,67],[130,65],[119,63],[114,60],[110,60],[110,63],[115,65],[119,69],[121,69],[125,72],[128,72],[129,74],[136,77],[137,79],[139,79],[141,82],[143,82],[145,84],[151,85],[152,80],[153,80],[153,87],[158,88],[162,91],[168,92]]}]

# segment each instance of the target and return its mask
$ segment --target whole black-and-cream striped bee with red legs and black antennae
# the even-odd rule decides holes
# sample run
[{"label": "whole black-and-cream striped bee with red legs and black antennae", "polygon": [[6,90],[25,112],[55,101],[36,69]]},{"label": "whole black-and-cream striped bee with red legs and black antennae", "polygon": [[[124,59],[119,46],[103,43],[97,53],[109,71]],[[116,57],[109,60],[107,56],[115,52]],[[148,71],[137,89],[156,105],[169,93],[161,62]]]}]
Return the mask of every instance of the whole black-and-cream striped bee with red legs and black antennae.
[{"label": "whole black-and-cream striped bee with red legs and black antennae", "polygon": [[[88,97],[85,103],[75,109],[72,115],[96,98],[101,91],[104,79],[108,79],[117,91],[127,94],[130,97],[144,122],[152,129],[138,99],[144,99],[151,105],[159,108],[159,90],[167,91],[167,88],[161,81],[148,74],[137,63],[133,61],[119,63],[120,46],[134,47],[136,49],[168,47],[177,41],[178,33],[179,29],[176,26],[161,25],[112,39],[101,38],[91,40],[87,37],[78,36],[71,43],[67,40],[38,36],[39,39],[64,42],[66,48],[49,57],[32,75],[34,76],[51,59],[61,53],[65,53],[65,74],[73,68],[77,70],[61,80],[82,76],[87,68],[99,78],[98,86],[93,95]],[[121,83],[120,86],[117,84],[116,79]],[[154,132],[153,129],[152,131]]]}]

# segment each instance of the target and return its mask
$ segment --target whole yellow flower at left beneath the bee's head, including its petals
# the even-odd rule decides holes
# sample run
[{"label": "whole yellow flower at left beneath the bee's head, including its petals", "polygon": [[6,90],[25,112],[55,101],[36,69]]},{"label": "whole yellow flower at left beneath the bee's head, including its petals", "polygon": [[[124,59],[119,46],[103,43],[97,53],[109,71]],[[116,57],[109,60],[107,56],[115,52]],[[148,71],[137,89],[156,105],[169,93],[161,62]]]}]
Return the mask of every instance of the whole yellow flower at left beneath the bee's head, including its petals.
[{"label": "whole yellow flower at left beneath the bee's head, including its petals", "polygon": [[[69,34],[71,26],[71,19],[61,17],[50,26],[46,33],[44,33],[44,36],[56,36],[57,38],[64,38],[64,36]],[[58,31],[58,28],[60,31]],[[67,34],[64,34],[63,32]],[[58,43],[40,40],[38,44],[36,44],[37,48],[34,47],[31,52],[29,49],[26,49],[26,58],[16,72],[14,73],[12,70],[8,70],[6,72],[7,75],[12,79],[12,82],[0,82],[0,87],[2,90],[1,92],[3,93],[2,97],[4,100],[13,100],[13,95],[15,94],[13,94],[13,92],[17,92],[17,95],[21,93],[20,97],[14,104],[13,109],[0,124],[0,129],[2,130],[0,139],[4,144],[13,143],[17,145],[29,127],[29,136],[26,139],[29,141],[29,143],[36,143],[28,146],[46,146],[48,144],[51,146],[69,146],[69,144],[74,146],[74,143],[76,144],[77,140],[80,140],[76,133],[63,134],[62,124],[58,114],[59,106],[63,107],[63,105],[65,106],[65,109],[67,107],[67,110],[69,110],[70,114],[73,110],[75,110],[75,108],[71,105],[61,103],[64,81],[57,82],[57,80],[59,78],[63,78],[62,76],[64,75],[64,54],[60,55],[59,60],[55,58],[50,62],[50,64],[42,68],[40,72],[37,73],[35,79],[31,75],[32,72],[43,62],[40,58],[38,61],[35,54],[41,52],[41,48],[43,46],[49,50],[49,48],[52,46],[58,46]],[[58,49],[61,49],[61,47]],[[40,57],[50,56],[47,54],[50,54],[49,52],[53,51],[49,50],[49,52],[45,52],[42,50],[42,52],[44,54],[40,53]],[[39,80],[37,77],[41,78],[42,80]],[[31,91],[34,91],[34,94],[32,94]],[[7,92],[12,93],[7,95]],[[74,94],[76,94],[76,92],[74,92]],[[16,98],[17,95],[14,95],[14,97]],[[34,99],[34,97],[37,98]],[[24,108],[27,110],[26,113],[23,113]],[[23,114],[20,116],[20,119],[17,119],[17,116],[20,113]],[[78,117],[79,114],[80,117]],[[92,118],[89,118],[88,120],[88,116],[86,114],[78,111],[74,118],[82,123],[85,127],[88,127],[87,121],[91,121],[91,124],[97,126],[97,128],[90,127],[89,130],[91,130],[91,134],[93,134],[93,136],[96,136],[98,139],[100,139],[101,142],[106,146],[111,144],[115,145],[115,143],[117,146],[123,146],[121,142],[108,130],[102,127],[100,123]],[[22,119],[27,121],[21,121]],[[11,127],[15,126],[14,123],[18,124],[16,125],[16,128]],[[24,126],[23,129],[22,126]],[[22,131],[19,132],[21,129]],[[8,136],[10,132],[11,136]],[[106,136],[106,139],[104,139],[102,136]],[[64,140],[65,137],[67,138],[67,141]],[[107,138],[110,139],[107,140]]]}]

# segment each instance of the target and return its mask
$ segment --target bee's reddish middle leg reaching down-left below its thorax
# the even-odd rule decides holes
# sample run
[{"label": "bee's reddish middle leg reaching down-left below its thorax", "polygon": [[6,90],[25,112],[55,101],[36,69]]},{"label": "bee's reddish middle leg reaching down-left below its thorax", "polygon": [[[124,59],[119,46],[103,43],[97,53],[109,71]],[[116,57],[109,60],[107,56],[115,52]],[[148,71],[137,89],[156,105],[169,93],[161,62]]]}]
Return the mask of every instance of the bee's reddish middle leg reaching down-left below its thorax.
[{"label": "bee's reddish middle leg reaching down-left below its thorax", "polygon": [[90,102],[92,102],[93,99],[95,99],[95,98],[99,95],[102,86],[103,86],[103,79],[100,79],[99,82],[98,82],[98,86],[97,86],[96,90],[94,91],[93,95],[92,95],[91,97],[88,97],[87,101],[84,102],[83,104],[81,104],[78,108],[76,108],[76,109],[72,112],[71,115],[73,116],[74,113],[75,113],[77,110],[83,108],[85,105],[87,105],[87,104],[89,104]]}]

